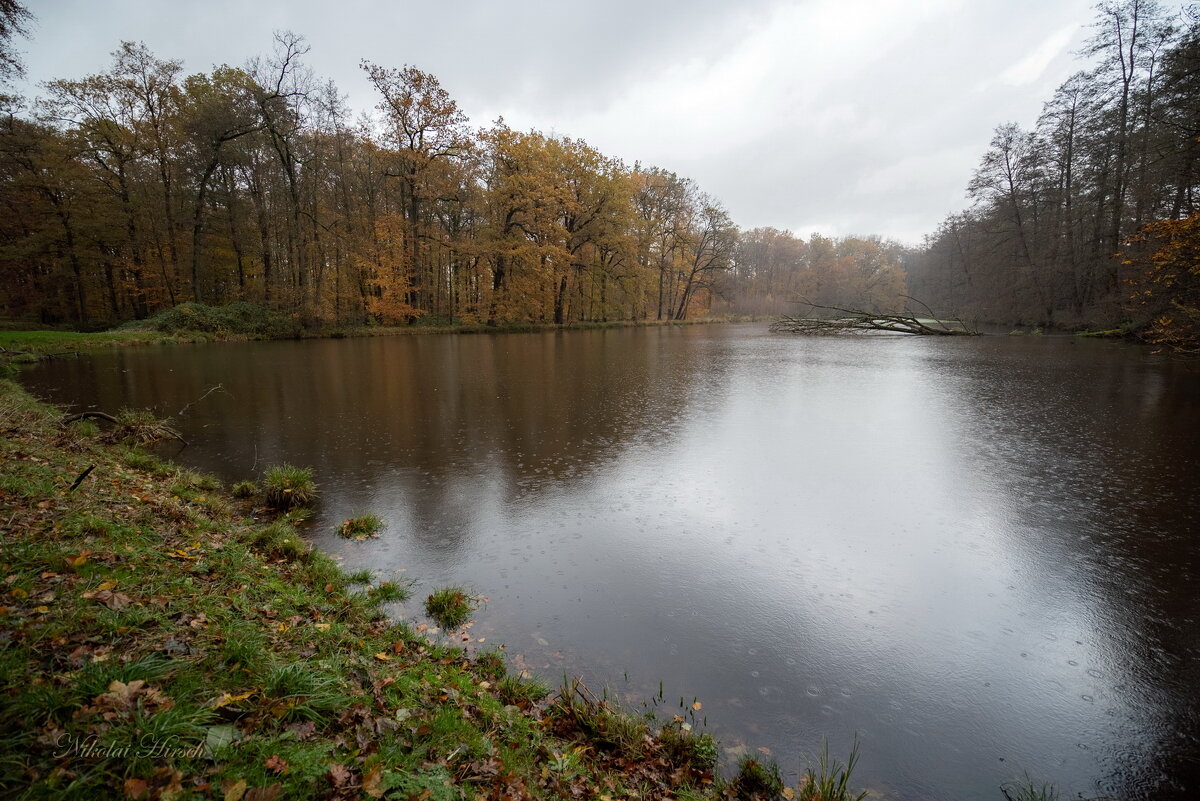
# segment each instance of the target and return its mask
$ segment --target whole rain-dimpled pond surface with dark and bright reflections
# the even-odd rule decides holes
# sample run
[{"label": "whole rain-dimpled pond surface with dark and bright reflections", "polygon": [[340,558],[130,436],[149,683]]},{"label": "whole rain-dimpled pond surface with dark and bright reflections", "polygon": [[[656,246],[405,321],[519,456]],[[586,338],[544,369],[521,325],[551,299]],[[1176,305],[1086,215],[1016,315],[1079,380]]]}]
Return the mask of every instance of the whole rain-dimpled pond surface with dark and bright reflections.
[{"label": "whole rain-dimpled pond surface with dark and bright reflections", "polygon": [[[1055,338],[805,339],[760,326],[139,349],[28,374],[180,418],[228,480],[314,468],[313,537],[551,680],[785,772],[858,733],[895,799],[1200,788],[1200,379]],[[367,511],[389,529],[330,531]],[[408,614],[419,614],[410,603]]]}]

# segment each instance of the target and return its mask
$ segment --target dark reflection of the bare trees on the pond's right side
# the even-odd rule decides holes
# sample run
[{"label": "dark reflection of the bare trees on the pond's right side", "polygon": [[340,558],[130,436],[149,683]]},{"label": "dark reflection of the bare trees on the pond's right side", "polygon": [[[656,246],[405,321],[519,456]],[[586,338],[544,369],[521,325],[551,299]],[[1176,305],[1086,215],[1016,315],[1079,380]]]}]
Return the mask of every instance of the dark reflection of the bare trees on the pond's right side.
[{"label": "dark reflection of the bare trees on the pond's right side", "polygon": [[964,380],[947,386],[966,408],[973,466],[1010,494],[1026,582],[1091,598],[1110,683],[1141,718],[1105,789],[1166,797],[1159,776],[1176,793],[1200,785],[1200,375],[1088,345],[958,353],[947,367]]}]

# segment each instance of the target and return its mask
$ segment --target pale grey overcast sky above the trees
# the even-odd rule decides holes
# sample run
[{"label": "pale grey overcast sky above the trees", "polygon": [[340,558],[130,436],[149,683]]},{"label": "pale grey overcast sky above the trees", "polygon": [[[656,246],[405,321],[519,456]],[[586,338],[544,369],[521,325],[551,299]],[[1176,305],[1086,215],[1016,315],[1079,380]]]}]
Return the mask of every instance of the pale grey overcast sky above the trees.
[{"label": "pale grey overcast sky above the trees", "polygon": [[[26,0],[29,84],[103,71],[121,40],[190,72],[275,30],[355,110],[358,65],[432,72],[476,126],[586,139],[695,179],[744,228],[910,243],[966,204],[1004,121],[1081,64],[1093,0]],[[26,94],[37,94],[36,86]]]}]

